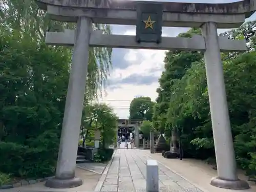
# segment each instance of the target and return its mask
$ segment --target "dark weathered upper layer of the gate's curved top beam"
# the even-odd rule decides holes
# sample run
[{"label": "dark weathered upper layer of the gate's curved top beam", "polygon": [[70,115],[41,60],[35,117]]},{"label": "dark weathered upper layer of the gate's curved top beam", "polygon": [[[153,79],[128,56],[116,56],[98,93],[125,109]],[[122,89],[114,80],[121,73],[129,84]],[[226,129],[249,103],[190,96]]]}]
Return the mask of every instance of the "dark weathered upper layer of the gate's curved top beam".
[{"label": "dark weathered upper layer of the gate's curved top beam", "polygon": [[176,3],[176,2],[143,2],[129,0],[36,0],[41,9],[47,10],[47,5],[73,8],[99,8],[136,10],[139,3],[162,3],[164,12],[173,13],[206,13],[206,14],[241,14],[250,16],[256,10],[256,0],[224,4],[207,3]]}]

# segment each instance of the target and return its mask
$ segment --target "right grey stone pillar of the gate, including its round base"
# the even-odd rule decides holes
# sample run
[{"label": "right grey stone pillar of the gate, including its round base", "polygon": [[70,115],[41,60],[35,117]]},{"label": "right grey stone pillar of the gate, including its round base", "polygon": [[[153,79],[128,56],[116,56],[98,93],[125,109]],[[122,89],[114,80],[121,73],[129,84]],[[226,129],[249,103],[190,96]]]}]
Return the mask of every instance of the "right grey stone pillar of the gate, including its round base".
[{"label": "right grey stone pillar of the gate, including its round base", "polygon": [[237,175],[216,23],[205,23],[202,34],[206,45],[204,60],[218,169],[218,177],[212,178],[211,185],[247,189],[248,183],[239,180]]}]

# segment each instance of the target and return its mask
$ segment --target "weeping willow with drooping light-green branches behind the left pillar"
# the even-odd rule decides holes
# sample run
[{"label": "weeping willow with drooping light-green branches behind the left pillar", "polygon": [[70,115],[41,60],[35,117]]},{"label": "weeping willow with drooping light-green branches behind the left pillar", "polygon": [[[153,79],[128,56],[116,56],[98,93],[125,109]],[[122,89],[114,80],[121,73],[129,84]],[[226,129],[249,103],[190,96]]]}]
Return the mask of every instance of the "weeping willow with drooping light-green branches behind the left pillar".
[{"label": "weeping willow with drooping light-green branches behind the left pillar", "polygon": [[[41,44],[45,40],[47,30],[63,31],[65,28],[75,28],[74,23],[50,20],[46,12],[38,8],[35,1],[3,0],[1,10],[0,26],[3,27],[1,31],[10,32],[15,30],[16,33],[20,34],[20,40],[30,38],[30,41],[36,41]],[[93,29],[103,30],[105,34],[112,33],[109,25],[93,24]],[[71,59],[71,48],[55,46],[54,49],[65,52]],[[112,66],[111,55],[111,48],[90,49],[86,92],[89,100],[95,99],[98,96],[98,90],[106,86],[109,69]],[[70,65],[70,62],[67,64]]]}]

